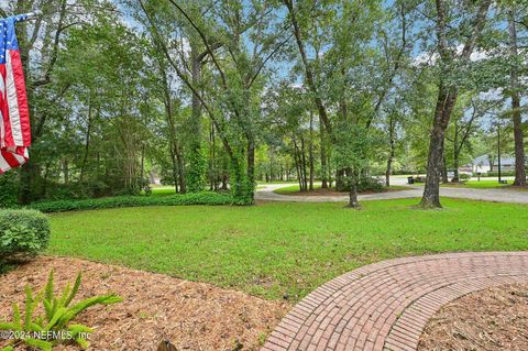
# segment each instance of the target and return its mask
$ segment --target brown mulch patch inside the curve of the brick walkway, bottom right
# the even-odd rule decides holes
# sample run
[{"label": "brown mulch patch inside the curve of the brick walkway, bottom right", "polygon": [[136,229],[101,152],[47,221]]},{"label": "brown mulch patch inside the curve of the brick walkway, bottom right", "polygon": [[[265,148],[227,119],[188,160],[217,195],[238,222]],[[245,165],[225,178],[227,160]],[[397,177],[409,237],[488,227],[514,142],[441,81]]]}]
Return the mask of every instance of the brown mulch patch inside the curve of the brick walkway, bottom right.
[{"label": "brown mulch patch inside the curve of the brick walkway, bottom right", "polygon": [[528,350],[528,284],[461,297],[429,320],[420,351]]}]

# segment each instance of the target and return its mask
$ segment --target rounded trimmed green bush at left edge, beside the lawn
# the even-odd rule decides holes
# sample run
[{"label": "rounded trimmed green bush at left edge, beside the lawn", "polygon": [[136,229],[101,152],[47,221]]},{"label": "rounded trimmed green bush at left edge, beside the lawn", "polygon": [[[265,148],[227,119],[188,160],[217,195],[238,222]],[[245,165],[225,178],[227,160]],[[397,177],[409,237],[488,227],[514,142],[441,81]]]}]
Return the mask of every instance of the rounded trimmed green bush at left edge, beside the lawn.
[{"label": "rounded trimmed green bush at left edge, beside the lawn", "polygon": [[0,265],[19,255],[35,255],[47,248],[50,223],[43,213],[30,210],[0,210]]}]

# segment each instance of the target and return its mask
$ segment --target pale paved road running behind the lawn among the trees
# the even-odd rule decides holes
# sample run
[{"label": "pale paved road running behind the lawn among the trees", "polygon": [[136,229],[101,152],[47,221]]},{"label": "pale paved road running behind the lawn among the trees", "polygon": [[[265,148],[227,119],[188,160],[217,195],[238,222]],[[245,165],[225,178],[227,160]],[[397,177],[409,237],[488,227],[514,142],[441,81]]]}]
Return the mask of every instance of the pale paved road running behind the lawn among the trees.
[{"label": "pale paved road running behind the lawn among the trees", "polygon": [[[399,180],[404,184],[405,180]],[[399,185],[397,182],[393,184]],[[261,185],[262,186],[262,185]],[[279,195],[273,193],[278,188],[292,186],[292,184],[271,184],[265,188],[257,189],[255,198],[257,200],[268,201],[293,201],[293,202],[343,202],[348,201],[346,196],[298,196],[298,195]],[[380,193],[360,195],[360,201],[364,200],[386,200],[421,197],[424,186],[413,186],[409,190]],[[440,188],[440,195],[443,197],[464,198],[472,200],[496,201],[496,202],[515,202],[528,204],[528,191],[516,191],[508,189],[468,189],[468,188]]]}]

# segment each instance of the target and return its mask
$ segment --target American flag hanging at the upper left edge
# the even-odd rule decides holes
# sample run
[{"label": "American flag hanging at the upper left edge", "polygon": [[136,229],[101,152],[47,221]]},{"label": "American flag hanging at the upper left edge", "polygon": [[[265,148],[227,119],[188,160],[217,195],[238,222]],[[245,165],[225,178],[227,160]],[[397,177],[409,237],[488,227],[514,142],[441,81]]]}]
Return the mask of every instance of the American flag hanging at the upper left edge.
[{"label": "American flag hanging at the upper left edge", "polygon": [[0,174],[29,160],[30,111],[24,72],[14,32],[24,15],[0,20]]}]

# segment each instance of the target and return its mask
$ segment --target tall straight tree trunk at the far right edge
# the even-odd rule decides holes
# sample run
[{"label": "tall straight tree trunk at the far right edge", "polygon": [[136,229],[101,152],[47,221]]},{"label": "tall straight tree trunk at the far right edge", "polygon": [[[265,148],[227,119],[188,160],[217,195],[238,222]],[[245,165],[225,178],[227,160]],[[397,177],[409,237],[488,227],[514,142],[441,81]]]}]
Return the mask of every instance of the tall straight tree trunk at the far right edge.
[{"label": "tall straight tree trunk at the far right edge", "polygon": [[510,68],[512,117],[514,120],[515,139],[515,180],[516,186],[526,186],[525,171],[525,138],[522,135],[522,120],[520,116],[519,73],[517,68],[517,29],[515,24],[515,6],[508,9],[509,52],[513,59]]}]

